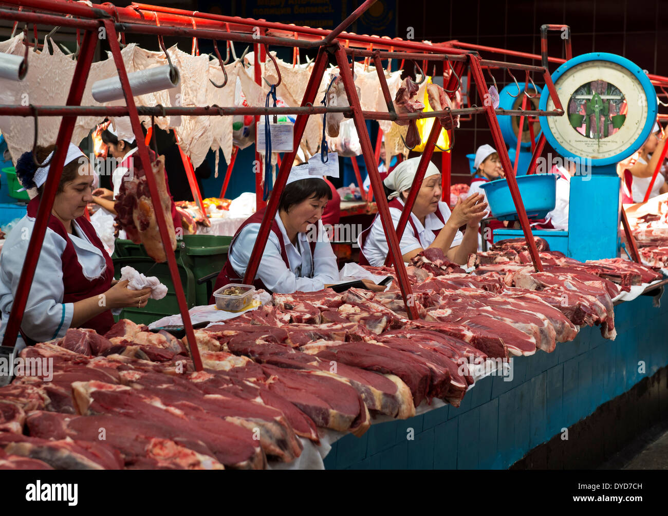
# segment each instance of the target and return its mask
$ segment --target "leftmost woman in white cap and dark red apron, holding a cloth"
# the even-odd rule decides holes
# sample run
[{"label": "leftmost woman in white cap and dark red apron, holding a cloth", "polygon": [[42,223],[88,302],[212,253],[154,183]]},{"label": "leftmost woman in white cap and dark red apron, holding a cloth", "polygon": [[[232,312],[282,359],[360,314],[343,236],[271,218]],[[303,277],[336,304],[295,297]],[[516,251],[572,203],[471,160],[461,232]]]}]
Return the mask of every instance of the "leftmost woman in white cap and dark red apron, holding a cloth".
[{"label": "leftmost woman in white cap and dark red apron, holding a cloth", "polygon": [[[49,162],[53,150],[53,145],[38,146],[37,160]],[[27,215],[7,235],[0,254],[0,338],[5,334],[49,170],[48,164],[37,168],[31,152],[23,153],[16,164],[21,184],[27,189],[36,188],[37,197],[28,203]],[[111,309],[146,306],[151,289],[130,290],[127,281],[114,281],[114,264],[84,217],[92,198],[93,180],[88,158],[69,144],[21,321],[19,349],[25,344],[61,338],[68,328],[92,328],[104,334],[114,324]]]}]

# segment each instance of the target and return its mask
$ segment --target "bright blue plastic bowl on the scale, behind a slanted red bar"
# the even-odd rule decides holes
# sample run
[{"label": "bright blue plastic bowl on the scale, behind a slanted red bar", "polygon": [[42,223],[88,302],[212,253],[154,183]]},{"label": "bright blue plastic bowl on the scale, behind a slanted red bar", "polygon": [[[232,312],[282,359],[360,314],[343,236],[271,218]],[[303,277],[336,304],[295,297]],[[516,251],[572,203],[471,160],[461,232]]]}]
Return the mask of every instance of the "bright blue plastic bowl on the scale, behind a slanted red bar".
[{"label": "bright blue plastic bowl on the scale, behind a slanted red bar", "polygon": [[[517,176],[520,197],[530,219],[544,219],[556,204],[556,174],[533,174]],[[485,190],[492,216],[500,221],[518,219],[517,210],[512,202],[508,181],[497,179],[480,185]]]}]

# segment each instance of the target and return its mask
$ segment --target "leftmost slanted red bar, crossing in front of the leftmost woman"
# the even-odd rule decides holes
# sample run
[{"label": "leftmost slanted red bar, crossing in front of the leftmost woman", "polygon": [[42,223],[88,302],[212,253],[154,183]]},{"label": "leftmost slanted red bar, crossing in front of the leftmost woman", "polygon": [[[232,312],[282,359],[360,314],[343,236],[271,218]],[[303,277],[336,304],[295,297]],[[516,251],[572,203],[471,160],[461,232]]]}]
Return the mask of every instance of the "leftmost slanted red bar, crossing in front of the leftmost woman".
[{"label": "leftmost slanted red bar, crossing in front of the leftmost woman", "polygon": [[[95,55],[97,45],[97,31],[86,31],[83,35],[83,47],[79,58],[77,59],[76,68],[73,75],[73,80],[69,86],[69,94],[67,95],[67,104],[79,104],[83,97],[83,90],[86,88],[86,80]],[[51,209],[53,208],[53,201],[58,190],[60,177],[63,173],[63,164],[65,163],[65,156],[69,141],[72,138],[74,124],[76,122],[75,116],[64,116],[60,122],[58,130],[58,138],[56,141],[57,148],[53,153],[49,170],[51,173],[47,175],[44,189],[39,201],[39,209],[37,209],[37,218],[35,225],[31,231],[28,249],[25,253],[25,261],[21,269],[21,276],[19,277],[19,284],[15,291],[14,301],[11,305],[11,313],[7,321],[7,328],[5,329],[5,336],[2,345],[13,348],[16,344],[17,336],[21,328],[21,321],[23,321],[23,314],[25,313],[25,305],[28,301],[31,285],[33,284],[33,277],[35,277],[35,269],[37,268],[37,261],[41,254],[41,247],[44,241],[47,225],[49,224],[49,217],[51,217]],[[35,121],[36,123],[36,121]]]}]

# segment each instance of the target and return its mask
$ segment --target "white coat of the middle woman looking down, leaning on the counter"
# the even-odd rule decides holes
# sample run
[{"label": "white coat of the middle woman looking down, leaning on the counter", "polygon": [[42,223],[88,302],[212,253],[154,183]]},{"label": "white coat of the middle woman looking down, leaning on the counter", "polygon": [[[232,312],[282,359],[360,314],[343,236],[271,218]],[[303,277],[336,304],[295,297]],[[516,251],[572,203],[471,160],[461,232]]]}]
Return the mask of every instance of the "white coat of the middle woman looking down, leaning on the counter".
[{"label": "white coat of the middle woman looking down, leaning on the counter", "polygon": [[[297,233],[297,241],[300,249],[297,249],[289,240],[281,217],[276,215],[276,222],[283,236],[285,253],[287,254],[290,268],[285,266],[281,257],[281,245],[273,231],[269,232],[269,239],[265,245],[260,266],[255,279],[261,279],[269,290],[277,293],[292,293],[296,291],[313,292],[322,290],[325,285],[339,281],[339,268],[336,255],[327,239],[327,232],[321,221],[318,221],[321,241],[315,244],[313,265],[315,271],[311,270],[311,246],[306,233]],[[230,245],[228,259],[232,268],[244,277],[246,266],[251,260],[253,245],[260,232],[258,223],[248,224],[234,239],[234,245]]]}]

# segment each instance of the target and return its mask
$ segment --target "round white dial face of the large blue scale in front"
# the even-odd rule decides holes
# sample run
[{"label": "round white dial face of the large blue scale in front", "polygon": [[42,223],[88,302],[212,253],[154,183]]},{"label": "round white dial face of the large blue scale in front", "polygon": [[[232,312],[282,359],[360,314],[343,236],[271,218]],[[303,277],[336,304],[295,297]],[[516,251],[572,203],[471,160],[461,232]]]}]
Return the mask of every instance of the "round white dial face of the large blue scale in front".
[{"label": "round white dial face of the large blue scale in front", "polygon": [[[599,160],[625,154],[645,129],[647,94],[639,78],[619,63],[593,59],[576,64],[554,86],[566,112],[545,117],[546,122],[573,156]],[[546,110],[554,110],[551,98]]]}]

